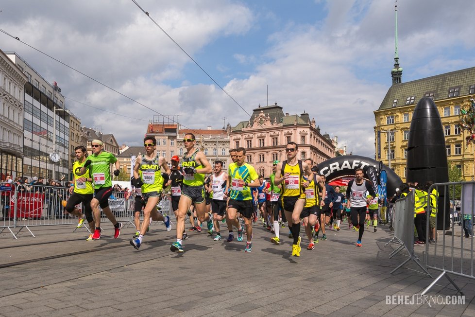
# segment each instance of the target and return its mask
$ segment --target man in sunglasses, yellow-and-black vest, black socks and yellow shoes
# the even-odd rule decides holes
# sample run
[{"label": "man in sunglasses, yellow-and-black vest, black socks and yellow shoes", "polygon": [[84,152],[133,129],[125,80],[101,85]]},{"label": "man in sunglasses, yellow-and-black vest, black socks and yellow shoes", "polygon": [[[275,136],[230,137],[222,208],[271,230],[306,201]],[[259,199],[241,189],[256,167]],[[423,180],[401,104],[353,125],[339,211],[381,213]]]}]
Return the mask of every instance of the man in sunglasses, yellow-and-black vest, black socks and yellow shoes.
[{"label": "man in sunglasses, yellow-and-black vest, black socks and yellow shoes", "polygon": [[277,164],[274,181],[283,183],[282,206],[293,236],[292,256],[300,256],[300,213],[305,206],[305,188],[312,181],[313,173],[307,163],[297,159],[297,143],[288,142],[285,150],[287,160]]}]

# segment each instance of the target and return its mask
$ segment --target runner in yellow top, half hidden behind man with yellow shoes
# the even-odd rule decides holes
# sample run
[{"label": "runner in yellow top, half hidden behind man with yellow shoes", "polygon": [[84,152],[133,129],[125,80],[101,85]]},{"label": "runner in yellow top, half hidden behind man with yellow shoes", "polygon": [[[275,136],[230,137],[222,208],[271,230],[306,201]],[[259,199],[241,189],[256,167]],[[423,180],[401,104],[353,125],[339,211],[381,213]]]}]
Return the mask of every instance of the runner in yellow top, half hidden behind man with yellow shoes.
[{"label": "runner in yellow top, half hidden behind man with yellow shoes", "polygon": [[[305,163],[309,166],[313,166],[313,159],[307,158],[305,159]],[[300,218],[304,222],[305,233],[308,238],[307,250],[313,250],[315,248],[312,229],[317,225],[316,230],[318,231],[320,227],[318,225],[319,210],[320,206],[324,204],[318,193],[320,192],[320,188],[322,188],[323,193],[325,191],[325,183],[323,183],[322,178],[317,175],[317,172],[312,171],[312,173],[314,174],[314,178],[310,181],[308,187],[305,188],[305,206],[300,213]]]}]

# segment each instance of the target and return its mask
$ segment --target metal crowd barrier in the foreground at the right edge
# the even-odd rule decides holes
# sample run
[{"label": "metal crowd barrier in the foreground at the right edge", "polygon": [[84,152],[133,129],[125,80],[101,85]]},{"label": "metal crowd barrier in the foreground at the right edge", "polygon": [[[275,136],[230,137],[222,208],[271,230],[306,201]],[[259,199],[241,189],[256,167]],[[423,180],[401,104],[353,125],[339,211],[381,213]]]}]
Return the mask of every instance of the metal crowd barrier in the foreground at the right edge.
[{"label": "metal crowd barrier in the foreground at the right edge", "polygon": [[[444,193],[444,204],[438,206],[435,217],[435,224],[437,218],[443,217],[443,230],[440,238],[438,238],[437,230],[434,239],[436,242],[425,247],[424,263],[427,268],[440,271],[441,274],[428,285],[422,294],[426,294],[430,288],[445,276],[447,280],[456,288],[456,290],[463,295],[461,289],[450,278],[449,274],[469,279],[475,279],[474,275],[474,238],[473,238],[473,219],[475,207],[475,182],[450,182],[433,184],[428,190],[428,199],[433,190],[438,193]],[[450,204],[447,204],[447,199],[454,200],[460,197],[460,217],[461,226],[458,226],[456,221],[451,221],[446,224],[448,219],[447,214],[453,214],[454,209]],[[430,201],[430,200],[428,200]],[[447,209],[446,206],[451,206]],[[428,204],[427,212],[427,233],[433,228],[430,223],[432,206]],[[432,217],[434,218],[434,217]],[[434,222],[433,222],[434,223]],[[446,226],[449,225],[449,226]],[[445,228],[449,229],[445,229]],[[437,229],[437,228],[436,228]],[[460,230],[458,230],[460,229]],[[427,239],[427,241],[429,241]],[[441,286],[441,285],[439,285]]]}]

